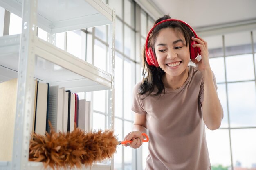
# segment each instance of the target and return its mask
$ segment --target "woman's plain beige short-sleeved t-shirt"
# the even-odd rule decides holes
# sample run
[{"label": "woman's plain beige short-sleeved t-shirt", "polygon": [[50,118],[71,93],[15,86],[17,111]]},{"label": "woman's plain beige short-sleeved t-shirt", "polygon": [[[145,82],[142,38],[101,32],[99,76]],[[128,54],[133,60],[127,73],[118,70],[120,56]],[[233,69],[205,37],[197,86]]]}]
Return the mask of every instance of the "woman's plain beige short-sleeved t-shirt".
[{"label": "woman's plain beige short-sleeved t-shirt", "polygon": [[[214,74],[213,81],[217,90]],[[210,170],[202,119],[202,73],[189,66],[189,76],[179,89],[165,88],[160,97],[149,95],[143,100],[145,96],[138,95],[140,83],[134,87],[132,111],[146,114],[149,135],[146,170]]]}]

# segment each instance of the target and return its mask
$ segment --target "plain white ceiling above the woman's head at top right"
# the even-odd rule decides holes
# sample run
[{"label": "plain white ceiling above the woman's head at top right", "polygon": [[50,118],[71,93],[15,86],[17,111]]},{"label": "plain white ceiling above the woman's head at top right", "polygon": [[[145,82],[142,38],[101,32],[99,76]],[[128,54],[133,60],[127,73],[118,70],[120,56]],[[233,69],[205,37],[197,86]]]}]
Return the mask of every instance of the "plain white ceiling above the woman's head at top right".
[{"label": "plain white ceiling above the woman's head at top right", "polygon": [[256,0],[148,0],[194,29],[256,19]]}]

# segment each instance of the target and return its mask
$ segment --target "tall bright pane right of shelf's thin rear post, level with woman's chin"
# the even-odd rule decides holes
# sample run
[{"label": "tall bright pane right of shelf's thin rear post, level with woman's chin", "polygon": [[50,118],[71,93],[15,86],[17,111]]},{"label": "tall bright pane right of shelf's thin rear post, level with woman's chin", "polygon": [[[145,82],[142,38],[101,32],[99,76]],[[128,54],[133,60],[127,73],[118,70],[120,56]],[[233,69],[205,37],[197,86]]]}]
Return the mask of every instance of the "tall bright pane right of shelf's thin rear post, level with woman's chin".
[{"label": "tall bright pane right of shelf's thin rear post, level with woman's chin", "polygon": [[123,60],[116,52],[115,57],[115,116],[122,117],[123,113]]}]

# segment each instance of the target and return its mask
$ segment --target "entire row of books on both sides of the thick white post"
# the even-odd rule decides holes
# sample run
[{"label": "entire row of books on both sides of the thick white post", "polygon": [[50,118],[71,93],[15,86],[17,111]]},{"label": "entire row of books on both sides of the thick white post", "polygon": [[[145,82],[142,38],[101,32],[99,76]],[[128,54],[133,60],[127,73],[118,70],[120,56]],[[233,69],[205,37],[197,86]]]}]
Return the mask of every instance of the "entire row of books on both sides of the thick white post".
[{"label": "entire row of books on both sides of the thick white post", "polygon": [[[10,161],[16,116],[18,79],[0,83],[0,160]],[[90,130],[90,101],[80,99],[65,88],[51,86],[34,79],[32,89],[31,132],[45,135],[50,132],[48,120],[54,131],[73,131],[79,127]]]}]

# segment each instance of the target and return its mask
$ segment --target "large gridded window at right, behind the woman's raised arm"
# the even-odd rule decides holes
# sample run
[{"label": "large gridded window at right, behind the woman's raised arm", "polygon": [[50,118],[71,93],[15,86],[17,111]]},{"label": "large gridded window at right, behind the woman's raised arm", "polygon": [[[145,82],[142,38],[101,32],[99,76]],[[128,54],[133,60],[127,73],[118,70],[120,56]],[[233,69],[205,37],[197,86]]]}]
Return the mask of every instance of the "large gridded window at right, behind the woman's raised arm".
[{"label": "large gridded window at right, behind the woman's raised arm", "polygon": [[203,37],[224,111],[220,129],[206,130],[212,169],[251,169],[256,165],[252,142],[256,140],[255,33]]}]

